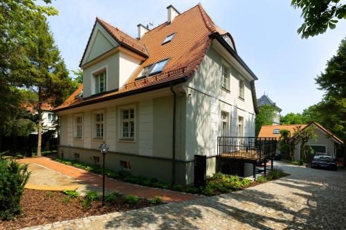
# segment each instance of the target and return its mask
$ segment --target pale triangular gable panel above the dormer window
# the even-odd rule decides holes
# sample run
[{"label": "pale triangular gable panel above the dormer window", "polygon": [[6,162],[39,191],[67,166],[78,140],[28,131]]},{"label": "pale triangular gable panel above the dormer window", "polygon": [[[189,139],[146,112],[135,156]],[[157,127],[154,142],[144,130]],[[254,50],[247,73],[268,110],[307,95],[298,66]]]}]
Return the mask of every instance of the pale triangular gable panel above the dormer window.
[{"label": "pale triangular gable panel above the dormer window", "polygon": [[99,57],[105,52],[118,46],[118,43],[100,26],[99,23],[95,23],[93,32],[91,33],[91,39],[86,47],[85,55],[82,59],[82,65]]}]

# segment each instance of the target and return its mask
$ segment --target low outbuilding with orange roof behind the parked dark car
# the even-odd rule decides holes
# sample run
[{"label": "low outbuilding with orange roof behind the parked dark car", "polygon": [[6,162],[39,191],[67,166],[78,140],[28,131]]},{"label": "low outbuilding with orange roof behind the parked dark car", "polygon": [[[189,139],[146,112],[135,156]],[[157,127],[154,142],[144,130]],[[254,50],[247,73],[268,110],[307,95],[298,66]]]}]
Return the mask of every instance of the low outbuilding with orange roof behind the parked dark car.
[{"label": "low outbuilding with orange roof behind the parked dark car", "polygon": [[[297,128],[298,126],[303,129],[309,126],[312,126],[314,128],[313,132],[317,137],[316,139],[309,140],[309,142],[307,142],[307,146],[311,146],[315,153],[328,153],[331,156],[336,157],[336,151],[343,144],[343,141],[317,122],[311,122],[310,124],[262,126],[258,137],[276,137],[277,140],[279,140],[280,131],[286,129],[291,132],[291,140],[293,140],[295,138],[293,136],[295,128]],[[294,160],[300,160],[300,142],[298,142],[298,144],[295,144]]]}]

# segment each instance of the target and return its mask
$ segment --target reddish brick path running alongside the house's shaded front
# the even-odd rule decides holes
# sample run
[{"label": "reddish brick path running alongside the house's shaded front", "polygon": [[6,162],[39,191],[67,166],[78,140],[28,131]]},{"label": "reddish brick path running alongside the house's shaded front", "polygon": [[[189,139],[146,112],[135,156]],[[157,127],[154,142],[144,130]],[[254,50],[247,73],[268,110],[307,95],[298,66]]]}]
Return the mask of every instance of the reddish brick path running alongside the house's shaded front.
[{"label": "reddish brick path running alongside the house's shaded front", "polygon": [[[66,164],[60,164],[51,160],[48,157],[34,157],[25,158],[19,160],[23,163],[35,163],[40,164],[48,169],[62,173],[63,175],[68,175],[78,181],[79,184],[89,184],[90,190],[95,188],[102,188],[102,176],[84,171],[82,169],[77,169],[73,166],[68,166]],[[106,178],[105,188],[107,191],[120,191],[122,194],[132,194],[138,195],[142,198],[154,198],[156,195],[160,195],[166,202],[180,202],[185,200],[198,199],[198,195],[179,193],[175,191],[167,191],[164,189],[155,189],[145,186],[138,186],[136,184],[129,184],[121,182],[118,180],[112,180]]]}]

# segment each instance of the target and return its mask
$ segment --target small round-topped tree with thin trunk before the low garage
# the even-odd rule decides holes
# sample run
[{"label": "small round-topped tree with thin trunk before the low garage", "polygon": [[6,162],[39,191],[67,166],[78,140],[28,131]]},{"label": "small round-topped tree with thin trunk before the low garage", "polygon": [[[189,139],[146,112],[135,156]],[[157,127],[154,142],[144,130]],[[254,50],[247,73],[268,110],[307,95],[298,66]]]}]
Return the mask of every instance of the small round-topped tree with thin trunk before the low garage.
[{"label": "small round-topped tree with thin trunk before the low garage", "polygon": [[307,126],[306,128],[297,126],[293,128],[293,139],[300,142],[300,158],[302,162],[307,162],[307,142],[317,137],[317,135],[313,133],[313,129],[313,126]]}]

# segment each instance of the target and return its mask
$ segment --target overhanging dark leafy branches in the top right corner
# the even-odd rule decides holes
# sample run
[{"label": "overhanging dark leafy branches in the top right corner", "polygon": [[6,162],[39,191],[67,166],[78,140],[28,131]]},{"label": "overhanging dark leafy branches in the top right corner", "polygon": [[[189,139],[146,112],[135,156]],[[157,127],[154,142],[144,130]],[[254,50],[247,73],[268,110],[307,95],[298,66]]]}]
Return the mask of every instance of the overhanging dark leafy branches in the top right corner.
[{"label": "overhanging dark leafy branches in the top right corner", "polygon": [[304,23],[297,32],[305,39],[334,29],[338,19],[346,19],[346,5],[340,0],[292,0],[291,6],[302,9]]}]

